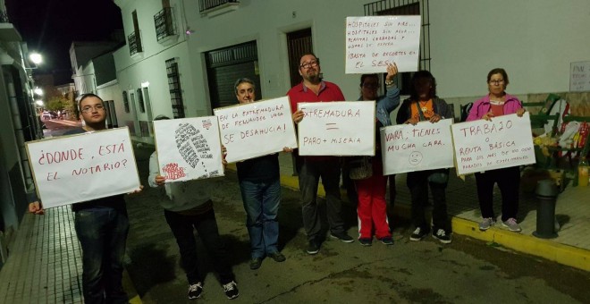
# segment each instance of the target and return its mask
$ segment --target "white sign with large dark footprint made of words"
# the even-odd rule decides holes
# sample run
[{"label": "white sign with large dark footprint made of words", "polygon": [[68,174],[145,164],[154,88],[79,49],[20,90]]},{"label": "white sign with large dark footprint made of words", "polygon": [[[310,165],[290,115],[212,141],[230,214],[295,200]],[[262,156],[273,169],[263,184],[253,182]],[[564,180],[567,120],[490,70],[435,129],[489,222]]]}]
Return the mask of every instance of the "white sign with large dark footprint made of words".
[{"label": "white sign with large dark footprint made of words", "polygon": [[166,182],[223,176],[217,117],[154,122],[157,161]]}]

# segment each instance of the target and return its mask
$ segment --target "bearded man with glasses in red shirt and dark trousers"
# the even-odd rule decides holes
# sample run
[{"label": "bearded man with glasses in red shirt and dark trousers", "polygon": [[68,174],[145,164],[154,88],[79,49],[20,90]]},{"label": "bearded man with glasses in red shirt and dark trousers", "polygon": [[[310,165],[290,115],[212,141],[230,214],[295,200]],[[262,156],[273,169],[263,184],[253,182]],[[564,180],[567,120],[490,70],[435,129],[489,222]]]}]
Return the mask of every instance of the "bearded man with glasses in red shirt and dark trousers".
[{"label": "bearded man with glasses in red shirt and dark trousers", "polygon": [[[332,82],[322,80],[320,72],[320,63],[316,55],[301,56],[299,75],[303,81],[287,92],[291,99],[293,122],[299,123],[303,119],[303,112],[297,111],[298,103],[344,101],[341,89]],[[320,236],[321,222],[316,203],[320,177],[325,189],[330,236],[347,243],[354,241],[344,230],[344,221],[341,216],[340,167],[340,158],[336,156],[296,156],[303,227],[308,234],[309,241],[306,251],[310,255],[319,252],[320,244],[324,239]]]}]

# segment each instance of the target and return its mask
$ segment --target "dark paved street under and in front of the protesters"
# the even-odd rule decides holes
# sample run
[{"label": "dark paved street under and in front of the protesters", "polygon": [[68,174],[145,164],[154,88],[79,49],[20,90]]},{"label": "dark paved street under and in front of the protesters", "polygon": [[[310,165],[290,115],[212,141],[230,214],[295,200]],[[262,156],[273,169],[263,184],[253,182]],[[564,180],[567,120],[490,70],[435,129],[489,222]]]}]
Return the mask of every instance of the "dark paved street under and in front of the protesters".
[{"label": "dark paved street under and in front of the protesters", "polygon": [[[150,150],[136,149],[142,182],[147,184]],[[374,242],[362,247],[328,240],[316,256],[304,252],[299,195],[282,191],[280,210],[282,252],[287,261],[266,259],[249,269],[248,233],[235,173],[209,180],[223,238],[235,257],[239,303],[587,303],[590,275],[539,258],[511,252],[483,241],[454,236],[451,245],[428,238],[410,242],[410,227],[390,217],[395,245]],[[178,248],[154,190],[128,198],[131,234],[127,267],[131,281],[146,303],[183,303],[186,280]],[[353,208],[345,208],[350,235],[357,236]],[[206,253],[201,250],[201,256]],[[205,260],[205,258],[203,258]],[[202,300],[226,300],[209,272]]]}]

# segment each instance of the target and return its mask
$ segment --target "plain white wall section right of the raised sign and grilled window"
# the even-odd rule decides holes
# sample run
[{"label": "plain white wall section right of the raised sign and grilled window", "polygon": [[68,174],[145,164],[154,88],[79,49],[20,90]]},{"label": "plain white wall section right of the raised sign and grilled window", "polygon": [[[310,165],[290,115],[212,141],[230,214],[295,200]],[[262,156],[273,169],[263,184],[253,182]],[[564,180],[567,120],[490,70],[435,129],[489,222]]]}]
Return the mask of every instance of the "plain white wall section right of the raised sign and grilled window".
[{"label": "plain white wall section right of the raised sign and grilled window", "polygon": [[590,60],[590,1],[430,1],[432,72],[442,97],[483,96],[506,69],[511,94],[569,91],[569,63]]}]

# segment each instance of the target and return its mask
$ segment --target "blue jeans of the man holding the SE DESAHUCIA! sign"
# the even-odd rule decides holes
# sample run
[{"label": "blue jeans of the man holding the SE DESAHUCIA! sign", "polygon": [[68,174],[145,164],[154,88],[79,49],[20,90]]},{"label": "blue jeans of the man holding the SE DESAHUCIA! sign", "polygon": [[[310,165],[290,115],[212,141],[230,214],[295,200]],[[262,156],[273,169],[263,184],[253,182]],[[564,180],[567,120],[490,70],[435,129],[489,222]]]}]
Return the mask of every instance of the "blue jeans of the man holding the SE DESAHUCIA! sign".
[{"label": "blue jeans of the man holding the SE DESAHUCIA! sign", "polygon": [[281,202],[281,182],[240,182],[241,199],[246,210],[246,226],[250,236],[252,258],[264,258],[277,252],[279,222],[276,215]]}]

